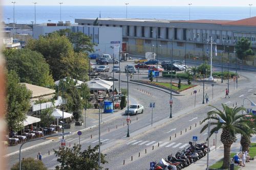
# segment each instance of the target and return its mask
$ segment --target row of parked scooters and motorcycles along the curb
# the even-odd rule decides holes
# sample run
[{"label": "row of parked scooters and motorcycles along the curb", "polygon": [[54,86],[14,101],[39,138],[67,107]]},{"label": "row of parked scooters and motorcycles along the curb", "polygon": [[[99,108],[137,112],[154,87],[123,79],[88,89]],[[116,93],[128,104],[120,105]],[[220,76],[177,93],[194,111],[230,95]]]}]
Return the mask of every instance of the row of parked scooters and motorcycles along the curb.
[{"label": "row of parked scooters and motorcycles along the curb", "polygon": [[193,144],[193,142],[189,142],[189,144],[190,146],[188,148],[177,152],[175,155],[170,154],[167,159],[161,158],[158,163],[154,162],[155,167],[151,167],[151,169],[180,170],[201,159],[210,151],[206,142],[200,144]]}]

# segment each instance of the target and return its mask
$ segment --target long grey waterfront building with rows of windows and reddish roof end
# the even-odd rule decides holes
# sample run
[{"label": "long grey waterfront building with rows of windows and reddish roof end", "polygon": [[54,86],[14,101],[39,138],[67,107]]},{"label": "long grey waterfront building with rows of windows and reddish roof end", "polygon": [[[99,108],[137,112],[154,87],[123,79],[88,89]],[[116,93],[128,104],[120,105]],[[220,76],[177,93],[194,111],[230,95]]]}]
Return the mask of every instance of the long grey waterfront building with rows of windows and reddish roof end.
[{"label": "long grey waterfront building with rows of windows and reddish roof end", "polygon": [[[90,26],[94,19],[75,19],[80,26]],[[100,20],[100,26],[121,27],[123,43],[130,54],[144,55],[155,52],[166,58],[200,58],[210,51],[209,40],[217,44],[218,56],[235,57],[234,45],[242,37],[252,43],[256,51],[256,17],[242,20],[156,20],[110,19]],[[215,45],[213,51],[215,50]],[[224,54],[223,54],[224,53]],[[186,54],[186,55],[185,55]]]}]

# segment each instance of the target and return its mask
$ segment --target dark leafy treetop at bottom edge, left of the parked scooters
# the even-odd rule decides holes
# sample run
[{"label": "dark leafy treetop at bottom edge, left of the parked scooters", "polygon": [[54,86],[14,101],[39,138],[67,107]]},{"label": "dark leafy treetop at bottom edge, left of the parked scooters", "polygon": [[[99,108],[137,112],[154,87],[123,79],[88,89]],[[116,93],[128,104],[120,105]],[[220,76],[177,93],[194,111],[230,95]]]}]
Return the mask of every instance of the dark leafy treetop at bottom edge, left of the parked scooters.
[{"label": "dark leafy treetop at bottom edge, left of the parked scooters", "polygon": [[[91,145],[87,150],[81,151],[81,147],[78,144],[74,144],[73,148],[61,148],[60,151],[55,151],[57,161],[61,165],[57,165],[56,170],[95,170],[99,169],[98,165],[98,148],[96,145],[91,148]],[[100,163],[108,163],[105,160],[105,155],[100,153]],[[102,167],[100,167],[102,168]]]}]

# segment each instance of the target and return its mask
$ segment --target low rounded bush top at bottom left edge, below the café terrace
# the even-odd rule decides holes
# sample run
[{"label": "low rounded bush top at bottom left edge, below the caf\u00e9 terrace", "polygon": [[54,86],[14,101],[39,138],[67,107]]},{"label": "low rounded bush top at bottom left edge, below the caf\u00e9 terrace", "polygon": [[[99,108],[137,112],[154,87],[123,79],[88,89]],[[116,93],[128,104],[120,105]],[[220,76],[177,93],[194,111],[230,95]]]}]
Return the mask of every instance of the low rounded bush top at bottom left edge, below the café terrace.
[{"label": "low rounded bush top at bottom left edge, below the caf\u00e9 terrace", "polygon": [[[22,160],[22,170],[47,170],[48,168],[40,160],[25,158]],[[19,170],[19,162],[11,167],[11,170]]]}]

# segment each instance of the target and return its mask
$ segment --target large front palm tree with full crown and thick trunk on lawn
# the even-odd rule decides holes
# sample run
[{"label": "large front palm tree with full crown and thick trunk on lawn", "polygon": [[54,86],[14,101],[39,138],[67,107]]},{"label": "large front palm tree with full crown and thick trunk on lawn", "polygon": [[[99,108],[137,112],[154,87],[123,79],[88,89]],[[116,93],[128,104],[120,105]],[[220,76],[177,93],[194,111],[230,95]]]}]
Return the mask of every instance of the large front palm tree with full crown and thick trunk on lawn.
[{"label": "large front palm tree with full crown and thick trunk on lawn", "polygon": [[[211,106],[214,107],[214,106]],[[246,138],[250,137],[247,129],[250,128],[250,122],[243,118],[247,114],[241,115],[239,112],[245,110],[243,107],[230,108],[227,105],[222,104],[224,111],[214,107],[216,110],[209,111],[207,117],[203,120],[205,122],[208,119],[217,120],[210,123],[210,126],[214,126],[211,129],[210,135],[214,134],[215,131],[222,129],[221,142],[224,145],[224,159],[222,168],[228,168],[230,159],[230,148],[231,144],[237,140],[236,134],[242,134]],[[217,115],[217,116],[215,116]],[[226,123],[220,123],[219,117],[222,118]],[[200,133],[207,129],[208,125],[205,125]]]}]

